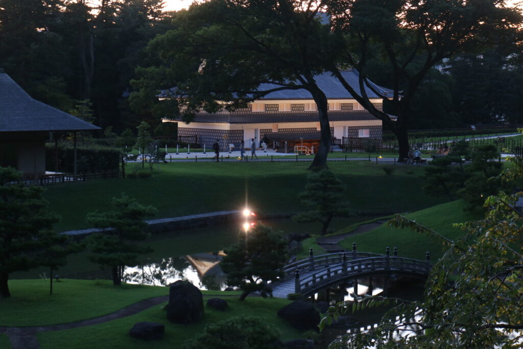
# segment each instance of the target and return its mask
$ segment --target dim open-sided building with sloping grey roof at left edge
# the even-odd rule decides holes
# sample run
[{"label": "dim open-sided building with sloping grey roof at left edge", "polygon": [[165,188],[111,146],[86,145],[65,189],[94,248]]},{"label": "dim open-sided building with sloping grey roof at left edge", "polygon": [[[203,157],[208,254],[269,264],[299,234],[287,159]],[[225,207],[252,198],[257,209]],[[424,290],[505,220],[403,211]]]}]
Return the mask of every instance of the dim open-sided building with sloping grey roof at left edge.
[{"label": "dim open-sided building with sloping grey roof at left edge", "polygon": [[76,131],[99,129],[31,98],[0,69],[0,166],[14,167],[26,177],[42,176],[46,174],[45,142],[54,133],[73,132],[76,140]]}]

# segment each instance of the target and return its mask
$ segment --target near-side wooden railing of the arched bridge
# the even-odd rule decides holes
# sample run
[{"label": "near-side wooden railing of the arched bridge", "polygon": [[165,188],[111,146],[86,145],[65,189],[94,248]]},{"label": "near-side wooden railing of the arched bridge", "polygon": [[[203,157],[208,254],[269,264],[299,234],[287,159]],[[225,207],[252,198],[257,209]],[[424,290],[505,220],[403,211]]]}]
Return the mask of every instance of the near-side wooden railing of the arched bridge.
[{"label": "near-side wooden railing of the arched bridge", "polygon": [[342,279],[350,275],[368,273],[372,271],[404,271],[415,274],[428,274],[430,271],[430,255],[427,253],[425,261],[413,258],[381,255],[356,260],[345,260],[341,264],[333,264],[331,267],[317,269],[317,272],[300,277],[300,270],[295,269],[295,293],[310,291],[321,288],[324,284],[329,284],[336,279]]}]

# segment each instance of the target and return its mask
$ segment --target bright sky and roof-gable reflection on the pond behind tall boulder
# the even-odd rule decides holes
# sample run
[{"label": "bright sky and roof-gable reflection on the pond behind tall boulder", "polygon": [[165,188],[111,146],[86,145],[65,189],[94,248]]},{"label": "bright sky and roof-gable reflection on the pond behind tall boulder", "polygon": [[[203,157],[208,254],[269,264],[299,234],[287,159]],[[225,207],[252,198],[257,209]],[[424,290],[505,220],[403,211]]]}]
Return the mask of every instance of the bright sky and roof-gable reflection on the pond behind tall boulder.
[{"label": "bright sky and roof-gable reflection on the pond behind tall boulder", "polygon": [[226,276],[220,268],[223,251],[198,253],[185,257],[147,260],[124,269],[123,280],[130,284],[167,286],[177,280],[188,280],[204,290],[224,290]]}]

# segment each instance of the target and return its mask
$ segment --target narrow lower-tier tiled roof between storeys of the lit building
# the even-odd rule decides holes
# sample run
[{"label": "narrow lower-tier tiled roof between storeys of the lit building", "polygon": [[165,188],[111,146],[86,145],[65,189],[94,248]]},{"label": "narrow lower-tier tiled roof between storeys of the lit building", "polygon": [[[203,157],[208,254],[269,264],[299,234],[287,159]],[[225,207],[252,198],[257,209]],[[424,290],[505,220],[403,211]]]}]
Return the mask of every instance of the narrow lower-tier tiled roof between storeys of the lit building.
[{"label": "narrow lower-tier tiled roof between storeys of the lit building", "polygon": [[[378,120],[368,111],[329,112],[329,121]],[[179,118],[172,119],[180,121]],[[192,122],[203,123],[277,123],[277,122],[317,122],[317,112],[278,113],[278,114],[196,114]]]}]

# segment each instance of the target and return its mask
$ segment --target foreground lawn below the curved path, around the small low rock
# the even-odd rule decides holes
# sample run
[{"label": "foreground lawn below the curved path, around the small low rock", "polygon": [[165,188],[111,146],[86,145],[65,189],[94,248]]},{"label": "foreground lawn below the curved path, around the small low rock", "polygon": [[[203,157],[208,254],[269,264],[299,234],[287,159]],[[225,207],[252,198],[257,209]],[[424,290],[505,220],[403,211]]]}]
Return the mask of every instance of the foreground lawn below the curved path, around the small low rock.
[{"label": "foreground lawn below the curved path, around the small low rock", "polygon": [[[281,333],[283,341],[301,337],[301,333],[298,330],[291,328],[286,322],[277,317],[278,309],[290,302],[286,299],[247,297],[243,302],[239,301],[237,297],[224,299],[229,303],[228,310],[213,310],[206,306],[204,319],[197,324],[181,325],[171,323],[166,318],[166,312],[161,306],[157,306],[133,316],[103,324],[72,330],[39,333],[38,341],[43,349],[179,348],[185,341],[193,339],[198,333],[203,331],[206,325],[240,315],[256,316],[264,319]],[[203,301],[207,302],[207,297],[204,297]],[[161,341],[144,342],[131,338],[129,330],[134,323],[140,321],[153,321],[165,324],[164,339]]]}]

